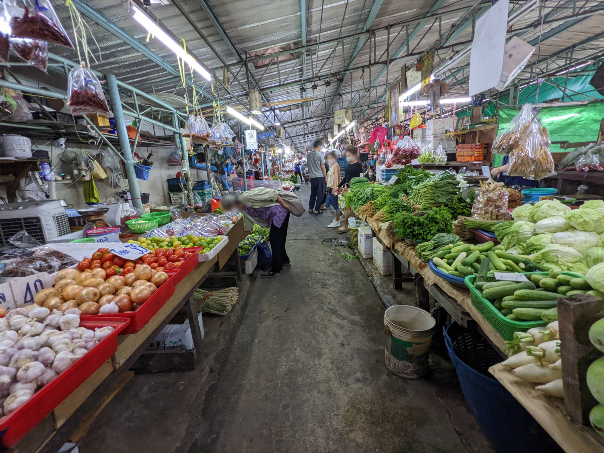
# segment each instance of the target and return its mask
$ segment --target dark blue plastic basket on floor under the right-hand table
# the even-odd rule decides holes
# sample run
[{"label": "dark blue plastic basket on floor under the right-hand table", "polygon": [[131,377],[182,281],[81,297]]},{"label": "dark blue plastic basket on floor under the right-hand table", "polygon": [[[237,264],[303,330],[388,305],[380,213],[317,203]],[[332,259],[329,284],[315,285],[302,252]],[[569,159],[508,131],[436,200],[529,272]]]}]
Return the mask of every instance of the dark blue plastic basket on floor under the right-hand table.
[{"label": "dark blue plastic basket on floor under the right-hand table", "polygon": [[503,359],[480,333],[452,323],[443,327],[443,336],[467,408],[497,453],[562,453],[525,408],[490,376],[489,367]]}]

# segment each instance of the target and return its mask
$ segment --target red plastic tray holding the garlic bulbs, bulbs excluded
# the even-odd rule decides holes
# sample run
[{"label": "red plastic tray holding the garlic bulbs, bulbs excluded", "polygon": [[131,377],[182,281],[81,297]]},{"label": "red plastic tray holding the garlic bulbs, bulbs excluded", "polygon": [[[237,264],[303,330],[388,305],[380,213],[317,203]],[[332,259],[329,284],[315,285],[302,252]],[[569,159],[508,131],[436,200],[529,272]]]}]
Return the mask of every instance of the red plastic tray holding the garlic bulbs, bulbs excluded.
[{"label": "red plastic tray holding the garlic bulbs, bulbs excluded", "polygon": [[111,326],[115,330],[92,348],[88,354],[67,368],[53,381],[34,393],[30,400],[11,413],[0,419],[2,444],[11,447],[27,434],[31,428],[50,414],[66,397],[78,388],[92,373],[104,364],[117,350],[117,336],[130,323],[127,319],[97,318],[96,320],[80,320],[80,326],[94,330],[95,327]]}]

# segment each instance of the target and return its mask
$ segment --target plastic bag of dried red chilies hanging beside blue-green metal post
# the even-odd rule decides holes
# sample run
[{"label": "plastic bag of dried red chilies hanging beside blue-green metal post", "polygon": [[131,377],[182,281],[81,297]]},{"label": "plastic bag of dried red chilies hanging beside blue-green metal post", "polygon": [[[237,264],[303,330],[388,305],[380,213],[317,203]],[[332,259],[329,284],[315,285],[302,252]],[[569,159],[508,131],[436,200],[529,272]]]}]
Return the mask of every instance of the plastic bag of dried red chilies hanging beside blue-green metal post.
[{"label": "plastic bag of dried red chilies hanging beside blue-green metal post", "polygon": [[101,83],[84,63],[69,72],[67,106],[74,115],[97,114],[111,117]]}]

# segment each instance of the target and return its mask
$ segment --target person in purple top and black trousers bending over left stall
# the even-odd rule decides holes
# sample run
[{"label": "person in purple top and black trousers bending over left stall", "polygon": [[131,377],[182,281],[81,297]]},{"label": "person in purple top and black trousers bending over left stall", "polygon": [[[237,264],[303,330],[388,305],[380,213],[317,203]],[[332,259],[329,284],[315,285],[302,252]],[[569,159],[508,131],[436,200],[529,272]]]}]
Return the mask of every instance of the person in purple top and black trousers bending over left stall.
[{"label": "person in purple top and black trousers bending over left stall", "polygon": [[[289,266],[289,257],[285,251],[285,241],[288,236],[289,214],[291,208],[279,196],[278,191],[268,187],[257,187],[239,193],[226,193],[220,204],[223,210],[240,212],[248,214],[253,219],[262,219],[268,223],[271,232],[269,241],[271,242],[272,267],[269,271],[260,274],[262,278],[271,278],[281,275],[283,266]],[[259,223],[258,220],[254,220]],[[263,223],[264,223],[263,222]]]}]

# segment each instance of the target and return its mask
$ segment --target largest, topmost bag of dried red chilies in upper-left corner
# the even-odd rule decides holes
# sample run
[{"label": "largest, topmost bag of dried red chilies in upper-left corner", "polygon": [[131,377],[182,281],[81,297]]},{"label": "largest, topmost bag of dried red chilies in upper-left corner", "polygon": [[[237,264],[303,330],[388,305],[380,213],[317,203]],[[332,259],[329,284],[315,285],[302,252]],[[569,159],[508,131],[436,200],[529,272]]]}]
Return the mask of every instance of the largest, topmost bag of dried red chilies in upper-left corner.
[{"label": "largest, topmost bag of dried red chilies in upper-left corner", "polygon": [[51,0],[4,0],[12,37],[40,39],[73,48]]}]

